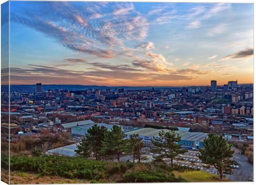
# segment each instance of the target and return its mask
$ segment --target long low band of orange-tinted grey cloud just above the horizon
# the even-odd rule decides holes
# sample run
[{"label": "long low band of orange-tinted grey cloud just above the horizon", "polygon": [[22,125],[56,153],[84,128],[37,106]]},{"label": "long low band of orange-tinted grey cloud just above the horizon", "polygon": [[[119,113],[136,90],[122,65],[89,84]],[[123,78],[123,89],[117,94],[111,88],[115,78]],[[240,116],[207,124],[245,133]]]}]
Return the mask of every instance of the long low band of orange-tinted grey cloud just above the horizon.
[{"label": "long low band of orange-tinted grey cloud just above the horizon", "polygon": [[[138,62],[138,61],[137,61]],[[143,63],[143,62],[142,62]],[[141,63],[141,64],[142,64]],[[149,62],[150,63],[150,62]],[[195,77],[185,73],[169,70],[165,74],[156,72],[154,68],[150,71],[138,69],[136,65],[114,65],[109,63],[90,62],[85,65],[87,70],[69,70],[58,67],[48,67],[44,65],[30,64],[28,67],[11,67],[11,84],[34,84],[38,81],[45,84],[65,83],[86,84],[86,85],[122,85],[126,81],[127,85],[145,85],[145,83],[161,81],[191,80]],[[154,66],[152,66],[154,67]],[[157,68],[157,67],[156,67]],[[8,68],[2,72],[8,72]]]}]

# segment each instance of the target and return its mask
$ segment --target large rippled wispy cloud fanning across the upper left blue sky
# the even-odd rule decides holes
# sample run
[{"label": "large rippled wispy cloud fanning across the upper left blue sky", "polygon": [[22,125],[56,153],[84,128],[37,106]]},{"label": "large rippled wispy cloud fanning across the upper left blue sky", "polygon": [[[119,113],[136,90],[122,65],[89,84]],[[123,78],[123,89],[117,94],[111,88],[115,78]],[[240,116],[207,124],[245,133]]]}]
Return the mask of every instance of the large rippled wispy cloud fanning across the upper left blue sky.
[{"label": "large rippled wispy cloud fanning across the upper left blue sky", "polygon": [[[51,37],[73,51],[100,58],[113,58],[130,40],[147,36],[147,19],[133,3],[119,2],[31,2],[16,4],[12,21]],[[84,5],[84,6],[81,6]],[[101,13],[98,13],[101,12]],[[129,14],[131,14],[129,16]],[[116,16],[122,16],[116,18]]]}]

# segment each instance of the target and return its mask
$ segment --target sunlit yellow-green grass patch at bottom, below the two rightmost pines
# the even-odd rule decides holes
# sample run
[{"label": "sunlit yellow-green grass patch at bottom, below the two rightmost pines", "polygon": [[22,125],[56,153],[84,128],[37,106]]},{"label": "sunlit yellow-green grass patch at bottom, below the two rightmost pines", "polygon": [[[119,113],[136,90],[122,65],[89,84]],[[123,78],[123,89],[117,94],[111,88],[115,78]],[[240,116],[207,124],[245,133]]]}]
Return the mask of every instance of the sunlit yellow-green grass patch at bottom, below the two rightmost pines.
[{"label": "sunlit yellow-green grass patch at bottom, below the two rightmost pines", "polygon": [[188,182],[230,182],[232,180],[223,179],[220,180],[219,176],[215,174],[208,173],[206,171],[185,171],[178,172],[173,171],[176,177],[181,176],[185,178]]}]

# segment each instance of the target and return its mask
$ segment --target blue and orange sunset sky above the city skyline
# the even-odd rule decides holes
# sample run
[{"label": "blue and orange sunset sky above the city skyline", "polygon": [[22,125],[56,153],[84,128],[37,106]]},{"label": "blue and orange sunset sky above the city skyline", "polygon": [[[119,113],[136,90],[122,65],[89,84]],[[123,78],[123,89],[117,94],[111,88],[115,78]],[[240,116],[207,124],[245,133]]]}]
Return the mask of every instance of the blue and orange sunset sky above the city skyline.
[{"label": "blue and orange sunset sky above the city skyline", "polygon": [[11,84],[253,83],[253,4],[10,2]]}]

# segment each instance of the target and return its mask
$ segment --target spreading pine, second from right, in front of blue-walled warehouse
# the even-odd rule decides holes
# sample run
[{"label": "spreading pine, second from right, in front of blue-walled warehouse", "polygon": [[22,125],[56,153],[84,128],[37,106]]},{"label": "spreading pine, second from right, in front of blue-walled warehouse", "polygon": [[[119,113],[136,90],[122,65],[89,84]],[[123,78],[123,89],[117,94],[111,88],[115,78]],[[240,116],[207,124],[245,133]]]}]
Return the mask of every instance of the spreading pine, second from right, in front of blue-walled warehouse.
[{"label": "spreading pine, second from right, in front of blue-walled warehouse", "polygon": [[173,166],[173,160],[183,160],[178,157],[179,154],[187,152],[187,149],[181,148],[181,144],[177,144],[181,140],[181,136],[176,134],[175,131],[164,132],[161,130],[158,137],[152,139],[152,143],[156,148],[152,148],[150,151],[156,155],[153,156],[155,161],[163,161],[164,158],[171,160],[171,166]]}]

